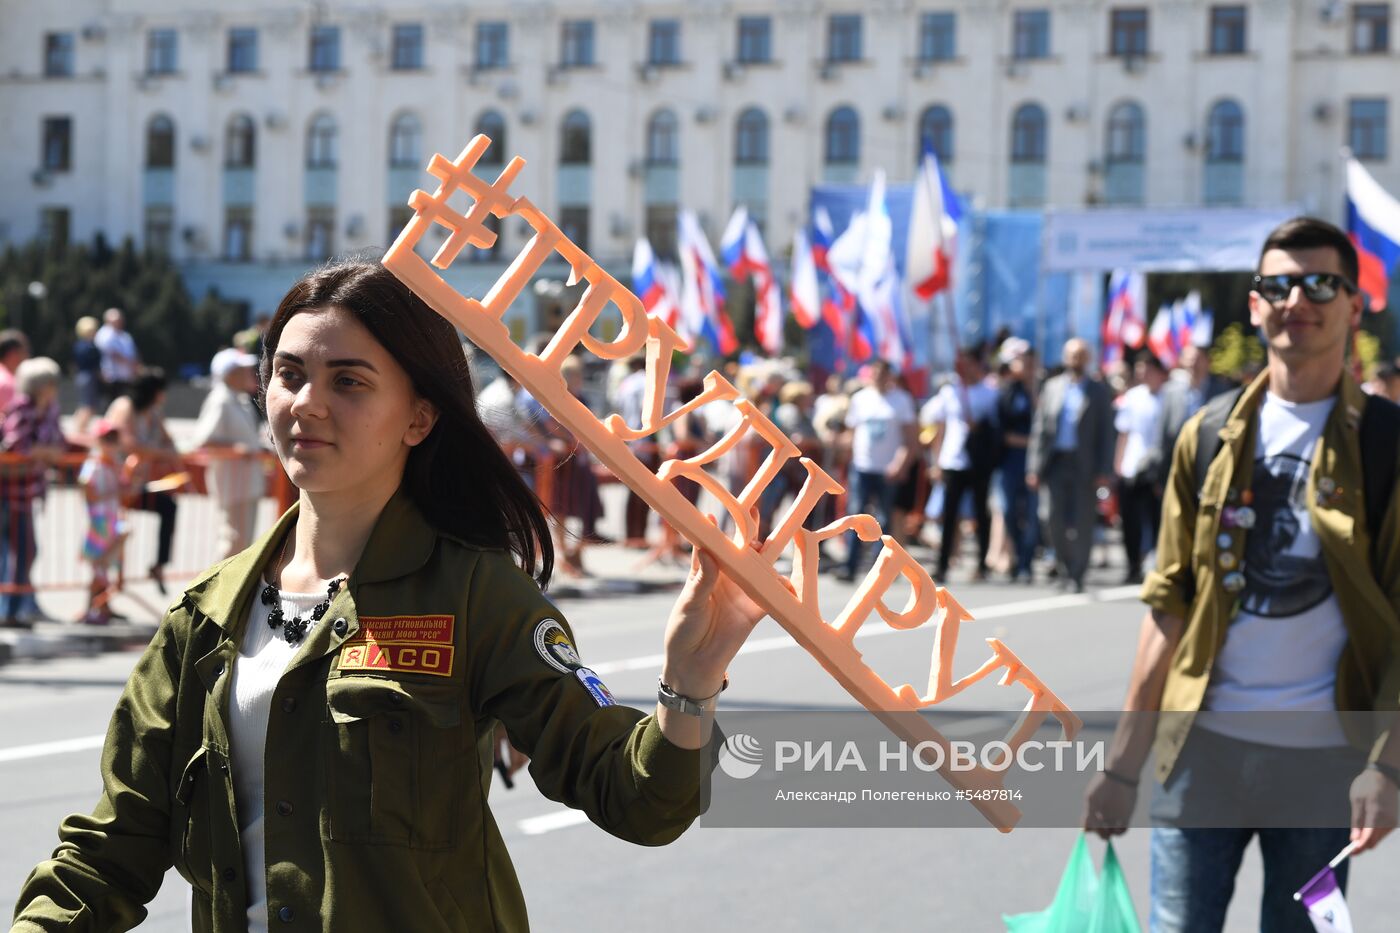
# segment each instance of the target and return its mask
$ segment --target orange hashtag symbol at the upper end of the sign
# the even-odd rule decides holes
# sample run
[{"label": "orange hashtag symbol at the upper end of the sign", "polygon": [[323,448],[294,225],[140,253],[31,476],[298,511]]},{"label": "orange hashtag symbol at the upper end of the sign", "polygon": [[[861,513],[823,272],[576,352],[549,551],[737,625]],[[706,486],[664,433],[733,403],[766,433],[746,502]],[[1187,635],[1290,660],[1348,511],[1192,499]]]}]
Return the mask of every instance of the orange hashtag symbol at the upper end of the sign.
[{"label": "orange hashtag symbol at the upper end of the sign", "polygon": [[[476,136],[462,150],[462,154],[456,157],[456,161],[434,153],[433,161],[428,164],[428,172],[435,175],[442,184],[431,195],[420,188],[409,198],[409,207],[417,212],[420,217],[447,227],[451,231],[447,242],[433,256],[433,265],[438,269],[451,266],[452,261],[456,259],[458,254],[466,245],[482,249],[494,247],[496,233],[486,226],[486,219],[490,214],[504,219],[510,216],[515,206],[515,198],[511,196],[508,189],[515,181],[515,175],[525,167],[522,158],[512,158],[511,164],[497,175],[494,182],[483,181],[472,171],[482,158],[482,153],[490,144],[491,140],[486,136]],[[472,207],[466,214],[447,206],[448,199],[459,191],[465,191],[473,199]]]}]

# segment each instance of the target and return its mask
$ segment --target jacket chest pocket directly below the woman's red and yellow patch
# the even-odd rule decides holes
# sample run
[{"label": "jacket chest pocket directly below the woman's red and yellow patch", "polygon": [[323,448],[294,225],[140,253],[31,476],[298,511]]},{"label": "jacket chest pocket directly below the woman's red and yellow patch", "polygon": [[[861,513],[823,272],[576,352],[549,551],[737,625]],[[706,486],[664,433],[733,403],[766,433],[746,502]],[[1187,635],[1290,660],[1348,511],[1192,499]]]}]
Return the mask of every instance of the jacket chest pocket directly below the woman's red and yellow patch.
[{"label": "jacket chest pocket directly below the woman's red and yellow patch", "polygon": [[328,834],[342,842],[456,843],[468,747],[461,686],[375,677],[326,685]]}]

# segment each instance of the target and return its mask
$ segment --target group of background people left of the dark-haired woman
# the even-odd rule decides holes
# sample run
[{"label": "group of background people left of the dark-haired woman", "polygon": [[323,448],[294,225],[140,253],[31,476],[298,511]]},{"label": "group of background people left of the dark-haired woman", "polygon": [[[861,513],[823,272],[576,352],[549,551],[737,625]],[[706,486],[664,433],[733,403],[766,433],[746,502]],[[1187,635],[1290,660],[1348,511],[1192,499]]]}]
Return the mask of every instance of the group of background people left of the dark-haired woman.
[{"label": "group of background people left of the dark-haired woman", "polygon": [[[263,322],[265,326],[265,322]],[[266,448],[258,392],[258,326],[234,335],[210,363],[211,389],[193,430],[176,447],[165,423],[169,382],[144,366],[119,308],[99,324],[74,328],[71,377],[76,410],[64,419],[59,391],[64,373],[49,357],[31,357],[20,331],[0,332],[0,626],[31,628],[46,619],[35,598],[32,572],[41,542],[35,510],[55,481],[83,490],[88,527],[80,555],[91,567],[83,622],[116,616],[111,598],[126,579],[129,511],[157,518],[155,553],[146,572],[165,593],[175,539],[175,492],[190,482],[185,458],[200,465],[220,517],[220,555],[252,544],[256,507],[266,492],[258,451]]]}]

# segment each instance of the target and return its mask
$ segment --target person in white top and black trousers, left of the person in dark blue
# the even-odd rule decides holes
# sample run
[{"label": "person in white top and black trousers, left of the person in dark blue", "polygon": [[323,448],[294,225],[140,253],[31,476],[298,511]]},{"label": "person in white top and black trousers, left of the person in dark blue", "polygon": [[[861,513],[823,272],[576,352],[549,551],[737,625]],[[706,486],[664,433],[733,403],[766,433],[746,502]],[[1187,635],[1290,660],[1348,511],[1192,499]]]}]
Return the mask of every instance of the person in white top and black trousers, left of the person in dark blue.
[{"label": "person in white top and black trousers, left of the person in dark blue", "polygon": [[948,577],[948,565],[958,549],[958,520],[963,497],[970,492],[977,523],[974,579],[986,580],[987,548],[991,542],[987,490],[997,466],[997,389],[987,384],[987,366],[976,350],[959,350],[953,368],[958,377],[928,399],[918,419],[924,427],[934,429],[930,479],[944,483],[944,530],[934,579],[944,581]]}]

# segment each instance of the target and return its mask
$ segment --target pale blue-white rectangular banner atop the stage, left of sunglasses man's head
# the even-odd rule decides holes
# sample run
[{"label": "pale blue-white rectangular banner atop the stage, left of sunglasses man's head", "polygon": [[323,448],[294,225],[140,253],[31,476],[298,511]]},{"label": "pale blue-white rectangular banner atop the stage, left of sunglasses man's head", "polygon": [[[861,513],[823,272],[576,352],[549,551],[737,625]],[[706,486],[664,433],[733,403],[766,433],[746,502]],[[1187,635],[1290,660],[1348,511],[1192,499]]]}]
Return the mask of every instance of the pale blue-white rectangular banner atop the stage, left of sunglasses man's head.
[{"label": "pale blue-white rectangular banner atop the stage, left of sunglasses man's head", "polygon": [[1050,212],[1042,270],[1253,269],[1268,233],[1298,213],[1289,207]]}]

